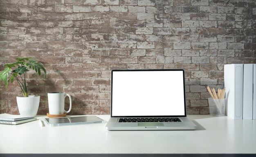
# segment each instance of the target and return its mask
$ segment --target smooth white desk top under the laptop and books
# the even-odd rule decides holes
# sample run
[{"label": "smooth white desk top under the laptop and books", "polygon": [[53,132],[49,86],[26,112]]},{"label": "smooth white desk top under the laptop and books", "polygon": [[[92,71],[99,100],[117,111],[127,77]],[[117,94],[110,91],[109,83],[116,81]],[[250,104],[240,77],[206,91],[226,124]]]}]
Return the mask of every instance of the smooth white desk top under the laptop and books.
[{"label": "smooth white desk top under the laptop and books", "polygon": [[108,131],[106,123],[41,127],[38,120],[0,124],[0,153],[256,153],[256,120],[188,117],[196,130]]}]

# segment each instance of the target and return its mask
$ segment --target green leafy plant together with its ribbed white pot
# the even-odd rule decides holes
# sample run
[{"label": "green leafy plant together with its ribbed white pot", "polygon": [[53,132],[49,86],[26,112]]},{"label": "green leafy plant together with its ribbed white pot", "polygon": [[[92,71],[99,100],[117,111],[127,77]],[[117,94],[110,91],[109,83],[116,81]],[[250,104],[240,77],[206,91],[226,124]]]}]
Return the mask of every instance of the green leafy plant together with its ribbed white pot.
[{"label": "green leafy plant together with its ribbed white pot", "polygon": [[8,83],[17,80],[23,96],[17,96],[17,104],[20,115],[25,116],[36,116],[38,106],[40,102],[39,95],[28,95],[26,74],[29,69],[33,69],[41,75],[41,70],[44,72],[46,77],[46,70],[43,64],[38,62],[35,57],[18,57],[16,62],[11,64],[5,64],[6,68],[0,73],[0,82],[4,82],[7,89]]}]

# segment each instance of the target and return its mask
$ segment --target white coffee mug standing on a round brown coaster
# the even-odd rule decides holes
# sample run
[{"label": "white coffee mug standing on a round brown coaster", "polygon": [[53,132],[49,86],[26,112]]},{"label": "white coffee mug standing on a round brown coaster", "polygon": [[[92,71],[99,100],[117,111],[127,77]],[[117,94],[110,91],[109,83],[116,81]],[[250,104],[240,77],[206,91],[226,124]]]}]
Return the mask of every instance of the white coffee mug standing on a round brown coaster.
[{"label": "white coffee mug standing on a round brown coaster", "polygon": [[[64,110],[64,101],[66,96],[70,98],[70,109],[68,111]],[[50,115],[61,115],[63,113],[69,113],[72,107],[71,96],[64,92],[50,92],[48,93],[48,105]]]}]

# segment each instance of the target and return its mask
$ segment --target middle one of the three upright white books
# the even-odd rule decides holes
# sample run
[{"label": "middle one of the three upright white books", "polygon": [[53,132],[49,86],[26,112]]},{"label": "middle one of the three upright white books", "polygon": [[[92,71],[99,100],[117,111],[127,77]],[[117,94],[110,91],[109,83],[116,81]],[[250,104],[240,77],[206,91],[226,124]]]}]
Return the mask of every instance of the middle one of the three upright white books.
[{"label": "middle one of the three upright white books", "polygon": [[253,117],[254,64],[244,64],[243,73],[243,119]]}]

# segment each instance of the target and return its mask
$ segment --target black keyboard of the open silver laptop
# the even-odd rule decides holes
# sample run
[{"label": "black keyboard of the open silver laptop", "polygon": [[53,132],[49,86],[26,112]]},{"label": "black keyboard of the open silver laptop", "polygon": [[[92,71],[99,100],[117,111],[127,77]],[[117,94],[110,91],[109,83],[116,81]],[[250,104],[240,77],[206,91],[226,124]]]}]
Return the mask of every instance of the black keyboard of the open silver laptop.
[{"label": "black keyboard of the open silver laptop", "polygon": [[181,122],[179,118],[119,118],[118,122]]}]

